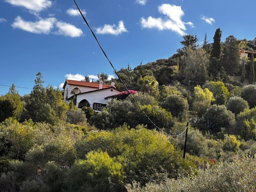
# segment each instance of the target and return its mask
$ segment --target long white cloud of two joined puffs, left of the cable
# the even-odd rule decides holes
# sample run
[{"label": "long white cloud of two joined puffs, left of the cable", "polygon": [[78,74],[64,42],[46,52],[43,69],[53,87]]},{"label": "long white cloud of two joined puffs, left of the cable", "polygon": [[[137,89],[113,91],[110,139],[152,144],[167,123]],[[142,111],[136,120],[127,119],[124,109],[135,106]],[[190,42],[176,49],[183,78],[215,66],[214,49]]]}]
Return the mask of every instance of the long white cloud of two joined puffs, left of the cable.
[{"label": "long white cloud of two joined puffs, left of the cable", "polygon": [[[83,34],[82,30],[79,28],[76,28],[76,26],[65,23],[62,21],[58,21],[56,18],[46,18],[31,22],[31,21],[25,21],[20,16],[17,16],[12,23],[13,28],[19,28],[21,30],[35,33],[35,34],[58,34],[58,35],[64,35],[69,37],[79,37]],[[53,32],[54,28],[57,28],[58,30]]]}]

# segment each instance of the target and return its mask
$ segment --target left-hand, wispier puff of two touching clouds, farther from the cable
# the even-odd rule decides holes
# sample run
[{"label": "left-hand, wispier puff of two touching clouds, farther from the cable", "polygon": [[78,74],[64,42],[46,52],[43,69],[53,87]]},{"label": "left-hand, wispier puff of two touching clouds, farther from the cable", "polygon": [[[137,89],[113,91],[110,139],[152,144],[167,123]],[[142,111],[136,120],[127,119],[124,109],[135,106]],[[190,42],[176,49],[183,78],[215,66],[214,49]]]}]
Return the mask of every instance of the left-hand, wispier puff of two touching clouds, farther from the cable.
[{"label": "left-hand, wispier puff of two touching clouds, farther from the cable", "polygon": [[14,22],[12,23],[12,27],[19,28],[24,31],[28,31],[36,34],[41,34],[41,33],[49,34],[52,28],[54,28],[55,21],[56,21],[56,18],[46,18],[36,22],[31,22],[31,21],[25,21],[20,16],[17,16]]}]

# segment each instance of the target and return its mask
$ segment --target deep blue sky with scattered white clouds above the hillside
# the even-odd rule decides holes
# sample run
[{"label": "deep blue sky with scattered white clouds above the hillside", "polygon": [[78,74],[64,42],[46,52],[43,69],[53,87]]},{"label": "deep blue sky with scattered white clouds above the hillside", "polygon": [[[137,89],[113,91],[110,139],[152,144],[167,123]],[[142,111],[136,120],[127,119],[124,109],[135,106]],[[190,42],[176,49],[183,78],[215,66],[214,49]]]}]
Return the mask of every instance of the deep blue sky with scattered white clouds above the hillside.
[{"label": "deep blue sky with scattered white clouds above the hillside", "polygon": [[[76,0],[116,69],[172,56],[184,34],[198,43],[216,28],[222,41],[256,37],[255,0]],[[0,95],[12,83],[21,95],[42,72],[45,86],[65,78],[114,74],[73,0],[0,0]],[[5,85],[5,86],[3,86]]]}]

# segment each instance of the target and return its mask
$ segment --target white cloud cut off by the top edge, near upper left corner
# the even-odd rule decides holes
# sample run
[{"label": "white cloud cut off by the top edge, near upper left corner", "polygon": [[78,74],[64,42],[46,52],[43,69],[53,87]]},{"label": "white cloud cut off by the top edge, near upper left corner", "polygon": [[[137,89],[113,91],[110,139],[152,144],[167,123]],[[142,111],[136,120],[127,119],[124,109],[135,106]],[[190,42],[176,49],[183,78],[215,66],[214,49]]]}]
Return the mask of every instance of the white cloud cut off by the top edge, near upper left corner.
[{"label": "white cloud cut off by the top edge, near upper left corner", "polygon": [[34,12],[40,12],[52,5],[50,0],[5,0],[14,6],[22,6]]}]

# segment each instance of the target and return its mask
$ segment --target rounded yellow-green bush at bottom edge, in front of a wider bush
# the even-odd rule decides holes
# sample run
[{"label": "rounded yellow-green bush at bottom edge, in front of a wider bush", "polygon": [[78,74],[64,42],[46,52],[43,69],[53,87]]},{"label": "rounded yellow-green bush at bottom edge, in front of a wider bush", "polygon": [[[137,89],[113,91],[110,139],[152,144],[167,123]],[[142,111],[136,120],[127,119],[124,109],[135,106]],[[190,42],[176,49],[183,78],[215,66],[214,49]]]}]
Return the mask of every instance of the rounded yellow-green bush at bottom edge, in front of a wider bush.
[{"label": "rounded yellow-green bush at bottom edge, in front of a wider bush", "polygon": [[122,165],[106,152],[89,152],[68,170],[65,185],[72,192],[115,192],[122,189]]}]

